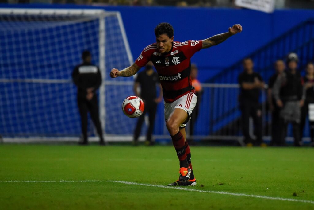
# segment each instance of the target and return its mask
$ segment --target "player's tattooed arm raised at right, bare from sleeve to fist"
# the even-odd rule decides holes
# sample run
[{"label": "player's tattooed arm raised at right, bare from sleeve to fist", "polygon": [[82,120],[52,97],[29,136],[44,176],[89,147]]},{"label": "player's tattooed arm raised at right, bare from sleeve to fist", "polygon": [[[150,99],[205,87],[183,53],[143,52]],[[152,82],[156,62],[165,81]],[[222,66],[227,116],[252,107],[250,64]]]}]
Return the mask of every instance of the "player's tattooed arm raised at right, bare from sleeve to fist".
[{"label": "player's tattooed arm raised at right, bare from sleeve to fist", "polygon": [[228,39],[230,36],[235,35],[241,31],[242,31],[242,26],[240,24],[233,25],[232,27],[229,27],[229,31],[226,33],[217,34],[208,39],[204,39],[202,42],[202,49],[208,48],[214,45],[218,45],[221,42]]}]

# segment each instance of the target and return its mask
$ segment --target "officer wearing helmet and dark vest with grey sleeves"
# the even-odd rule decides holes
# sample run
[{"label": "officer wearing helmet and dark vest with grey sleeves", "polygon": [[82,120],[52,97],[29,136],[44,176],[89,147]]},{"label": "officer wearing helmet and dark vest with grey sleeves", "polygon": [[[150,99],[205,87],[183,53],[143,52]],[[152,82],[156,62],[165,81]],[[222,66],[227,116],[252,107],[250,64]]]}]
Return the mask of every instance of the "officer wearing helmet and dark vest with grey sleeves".
[{"label": "officer wearing helmet and dark vest with grey sleeves", "polygon": [[294,146],[301,146],[300,120],[301,107],[304,105],[302,77],[298,71],[298,55],[290,53],[287,57],[287,69],[278,75],[273,85],[273,96],[280,108],[280,146],[285,145],[287,126],[293,125]]}]

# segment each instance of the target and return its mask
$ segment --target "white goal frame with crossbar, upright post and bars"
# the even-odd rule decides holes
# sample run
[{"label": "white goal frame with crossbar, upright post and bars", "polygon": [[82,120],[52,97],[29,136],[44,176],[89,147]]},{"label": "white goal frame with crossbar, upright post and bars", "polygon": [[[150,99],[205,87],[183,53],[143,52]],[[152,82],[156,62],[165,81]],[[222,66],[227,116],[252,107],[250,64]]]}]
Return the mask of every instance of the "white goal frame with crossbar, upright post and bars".
[{"label": "white goal frame with crossbar, upright post and bars", "polygon": [[[46,8],[0,8],[0,14],[3,15],[54,15],[54,16],[64,16],[64,15],[75,15],[75,16],[98,16],[99,18],[99,69],[102,75],[102,84],[99,89],[99,111],[100,111],[100,121],[102,125],[102,130],[106,141],[123,141],[123,137],[117,138],[117,136],[107,136],[106,137],[106,128],[105,128],[105,119],[106,119],[106,85],[111,85],[112,83],[106,82],[106,21],[105,18],[111,15],[116,15],[118,19],[118,24],[122,33],[122,39],[124,42],[125,50],[127,52],[127,58],[130,65],[133,64],[133,56],[131,49],[127,40],[127,35],[123,25],[122,17],[119,11],[106,11],[104,9],[46,9]],[[45,83],[72,83],[71,80],[54,80],[54,79],[0,79],[0,82],[45,82]],[[129,137],[130,138],[130,137]],[[127,138],[128,141],[129,138]],[[89,137],[91,141],[97,141],[98,137]],[[78,137],[13,137],[7,138],[4,137],[4,142],[38,142],[38,141],[78,141]]]}]

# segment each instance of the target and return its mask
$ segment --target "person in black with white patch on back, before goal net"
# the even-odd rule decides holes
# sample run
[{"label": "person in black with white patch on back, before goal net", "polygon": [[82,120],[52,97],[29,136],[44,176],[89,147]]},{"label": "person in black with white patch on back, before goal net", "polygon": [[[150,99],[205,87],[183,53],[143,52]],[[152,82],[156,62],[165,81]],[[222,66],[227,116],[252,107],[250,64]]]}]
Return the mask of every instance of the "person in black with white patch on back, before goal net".
[{"label": "person in black with white patch on back, before goal net", "polygon": [[82,59],[83,63],[76,66],[72,73],[73,82],[78,87],[77,102],[81,116],[83,134],[83,141],[79,142],[79,144],[88,144],[87,113],[89,111],[90,117],[100,137],[100,145],[105,145],[99,120],[99,108],[96,94],[96,90],[100,87],[102,81],[101,74],[99,68],[91,63],[92,56],[89,51],[86,50],[82,53]]}]

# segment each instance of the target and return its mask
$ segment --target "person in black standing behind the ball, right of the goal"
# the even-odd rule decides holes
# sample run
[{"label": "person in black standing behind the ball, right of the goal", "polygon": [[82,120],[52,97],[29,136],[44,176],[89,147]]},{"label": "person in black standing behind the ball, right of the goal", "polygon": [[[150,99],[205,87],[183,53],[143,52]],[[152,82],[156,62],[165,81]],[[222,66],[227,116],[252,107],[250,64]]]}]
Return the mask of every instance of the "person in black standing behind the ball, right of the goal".
[{"label": "person in black standing behind the ball, right of the goal", "polygon": [[[157,86],[159,87],[159,96],[157,97]],[[149,62],[145,66],[145,70],[138,73],[133,90],[136,96],[140,97],[145,105],[143,114],[138,118],[138,122],[134,131],[133,144],[138,144],[138,137],[141,133],[142,125],[146,113],[149,115],[149,126],[146,133],[146,145],[153,145],[152,133],[154,130],[155,115],[157,104],[162,101],[162,88],[159,76],[153,69],[153,63]]]}]

